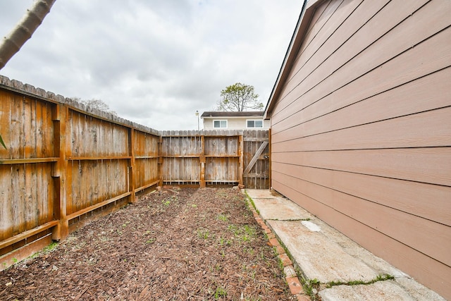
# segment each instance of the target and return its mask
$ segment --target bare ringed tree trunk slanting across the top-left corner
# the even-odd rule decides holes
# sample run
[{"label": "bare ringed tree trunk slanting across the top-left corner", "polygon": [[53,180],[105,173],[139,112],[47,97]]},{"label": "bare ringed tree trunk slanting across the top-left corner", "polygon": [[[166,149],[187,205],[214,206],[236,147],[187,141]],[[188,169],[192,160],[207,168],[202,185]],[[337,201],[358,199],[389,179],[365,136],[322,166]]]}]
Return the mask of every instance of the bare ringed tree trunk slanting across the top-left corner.
[{"label": "bare ringed tree trunk slanting across the top-left corner", "polygon": [[23,44],[30,39],[33,32],[41,25],[44,17],[49,13],[50,8],[56,0],[38,0],[32,8],[19,21],[16,27],[11,30],[8,36],[0,42],[0,69],[16,54]]}]

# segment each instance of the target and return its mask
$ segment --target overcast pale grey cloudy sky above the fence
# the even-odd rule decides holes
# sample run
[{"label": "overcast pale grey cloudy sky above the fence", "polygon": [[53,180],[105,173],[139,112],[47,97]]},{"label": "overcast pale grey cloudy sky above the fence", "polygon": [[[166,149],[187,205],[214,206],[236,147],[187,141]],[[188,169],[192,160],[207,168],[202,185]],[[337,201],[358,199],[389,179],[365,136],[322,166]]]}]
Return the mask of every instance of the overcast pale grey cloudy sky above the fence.
[{"label": "overcast pale grey cloudy sky above the fence", "polygon": [[[0,0],[0,35],[33,0]],[[156,130],[197,129],[228,85],[266,105],[302,0],[57,0],[0,70],[64,97],[101,99]],[[202,128],[202,120],[201,120]]]}]

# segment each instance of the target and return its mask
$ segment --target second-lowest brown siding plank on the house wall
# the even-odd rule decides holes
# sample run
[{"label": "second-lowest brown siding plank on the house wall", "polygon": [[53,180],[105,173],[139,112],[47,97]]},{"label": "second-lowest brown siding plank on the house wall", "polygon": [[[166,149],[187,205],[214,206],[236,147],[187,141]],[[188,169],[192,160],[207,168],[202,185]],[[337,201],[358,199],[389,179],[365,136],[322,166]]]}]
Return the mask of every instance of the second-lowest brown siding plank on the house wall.
[{"label": "second-lowest brown siding plank on the house wall", "polygon": [[276,171],[273,177],[316,202],[451,266],[450,226]]}]

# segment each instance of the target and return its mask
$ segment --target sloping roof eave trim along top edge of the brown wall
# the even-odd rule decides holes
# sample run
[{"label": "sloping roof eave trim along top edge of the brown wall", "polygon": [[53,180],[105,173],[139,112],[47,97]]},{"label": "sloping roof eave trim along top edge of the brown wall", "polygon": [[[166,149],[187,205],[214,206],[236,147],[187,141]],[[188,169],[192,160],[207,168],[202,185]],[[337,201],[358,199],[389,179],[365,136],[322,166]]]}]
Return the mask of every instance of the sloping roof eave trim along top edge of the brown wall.
[{"label": "sloping roof eave trim along top edge of the brown wall", "polygon": [[304,36],[307,32],[307,27],[309,26],[315,8],[322,1],[324,0],[304,0],[301,13],[299,14],[299,19],[297,20],[295,32],[293,32],[290,45],[288,46],[282,66],[280,67],[277,80],[274,84],[273,90],[271,91],[271,95],[269,96],[268,103],[266,104],[265,112],[263,115],[264,119],[269,119],[268,115],[271,114],[271,111],[273,110],[273,107],[275,105],[275,99],[277,99],[277,97],[279,96],[283,84],[288,78],[288,73],[290,73],[290,66],[292,66],[292,62],[296,59],[297,50],[304,40]]}]

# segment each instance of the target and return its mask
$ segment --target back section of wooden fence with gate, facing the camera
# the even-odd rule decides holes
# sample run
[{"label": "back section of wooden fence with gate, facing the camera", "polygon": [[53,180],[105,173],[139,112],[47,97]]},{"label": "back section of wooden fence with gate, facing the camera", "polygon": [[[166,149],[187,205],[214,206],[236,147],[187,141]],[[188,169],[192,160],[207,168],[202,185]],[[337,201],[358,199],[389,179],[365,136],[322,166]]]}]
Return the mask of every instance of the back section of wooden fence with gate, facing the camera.
[{"label": "back section of wooden fence with gate, facing the camera", "polygon": [[163,131],[163,184],[269,188],[267,130]]}]

